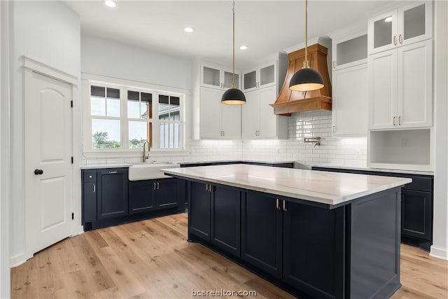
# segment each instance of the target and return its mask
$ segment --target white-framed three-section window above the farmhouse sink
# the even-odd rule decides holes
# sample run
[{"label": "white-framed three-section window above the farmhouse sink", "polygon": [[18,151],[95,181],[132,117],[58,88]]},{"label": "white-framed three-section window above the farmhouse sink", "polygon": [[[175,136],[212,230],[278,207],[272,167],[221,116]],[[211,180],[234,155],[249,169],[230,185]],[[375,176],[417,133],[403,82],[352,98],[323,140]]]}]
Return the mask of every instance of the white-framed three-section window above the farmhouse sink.
[{"label": "white-framed three-section window above the farmhouse sink", "polygon": [[152,149],[183,149],[183,95],[89,83],[85,132],[90,140],[85,141],[90,141],[90,147],[85,151],[140,151],[146,141]]}]

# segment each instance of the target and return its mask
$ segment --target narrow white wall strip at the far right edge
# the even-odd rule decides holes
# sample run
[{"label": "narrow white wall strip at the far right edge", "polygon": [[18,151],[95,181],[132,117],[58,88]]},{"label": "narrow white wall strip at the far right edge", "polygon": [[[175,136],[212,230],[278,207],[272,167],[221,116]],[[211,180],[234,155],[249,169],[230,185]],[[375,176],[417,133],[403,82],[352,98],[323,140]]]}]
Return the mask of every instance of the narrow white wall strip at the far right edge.
[{"label": "narrow white wall strip at the far right edge", "polygon": [[448,2],[435,1],[434,231],[430,255],[448,260]]}]

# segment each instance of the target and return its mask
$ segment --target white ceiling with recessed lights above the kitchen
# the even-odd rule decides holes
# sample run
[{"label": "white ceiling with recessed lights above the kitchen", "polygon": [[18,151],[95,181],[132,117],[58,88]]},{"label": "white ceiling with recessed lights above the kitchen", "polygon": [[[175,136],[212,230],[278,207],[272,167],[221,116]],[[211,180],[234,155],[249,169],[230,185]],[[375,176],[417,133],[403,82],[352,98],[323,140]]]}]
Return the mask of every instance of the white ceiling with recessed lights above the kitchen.
[{"label": "white ceiling with recessed lights above the kitchen", "polygon": [[[81,32],[180,57],[232,62],[232,1],[64,1],[80,15]],[[367,18],[391,1],[309,0],[308,36],[325,36]],[[304,1],[235,3],[236,67],[304,42]],[[187,34],[184,27],[193,27]],[[239,50],[241,45],[248,50]]]}]

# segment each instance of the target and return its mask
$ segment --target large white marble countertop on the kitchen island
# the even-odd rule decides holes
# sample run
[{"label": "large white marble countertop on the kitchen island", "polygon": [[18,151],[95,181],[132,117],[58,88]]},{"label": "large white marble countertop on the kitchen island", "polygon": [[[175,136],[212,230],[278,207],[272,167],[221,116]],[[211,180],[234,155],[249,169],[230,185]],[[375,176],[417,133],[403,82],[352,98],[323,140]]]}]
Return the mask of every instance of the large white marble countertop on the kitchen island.
[{"label": "large white marble countertop on the kitchen island", "polygon": [[162,169],[187,179],[220,183],[323,204],[341,204],[358,197],[405,185],[412,179],[369,176],[259,165],[213,165]]}]

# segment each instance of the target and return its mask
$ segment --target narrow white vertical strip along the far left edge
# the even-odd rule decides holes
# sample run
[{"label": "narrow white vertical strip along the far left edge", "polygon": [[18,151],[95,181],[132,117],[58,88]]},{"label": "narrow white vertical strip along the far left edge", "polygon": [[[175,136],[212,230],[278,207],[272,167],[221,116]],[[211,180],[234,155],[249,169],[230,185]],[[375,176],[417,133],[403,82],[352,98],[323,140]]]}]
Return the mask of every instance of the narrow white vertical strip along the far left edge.
[{"label": "narrow white vertical strip along the far left edge", "polygon": [[0,298],[10,296],[8,5],[0,2]]}]

